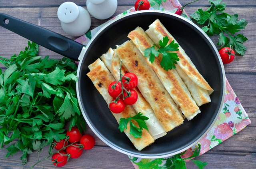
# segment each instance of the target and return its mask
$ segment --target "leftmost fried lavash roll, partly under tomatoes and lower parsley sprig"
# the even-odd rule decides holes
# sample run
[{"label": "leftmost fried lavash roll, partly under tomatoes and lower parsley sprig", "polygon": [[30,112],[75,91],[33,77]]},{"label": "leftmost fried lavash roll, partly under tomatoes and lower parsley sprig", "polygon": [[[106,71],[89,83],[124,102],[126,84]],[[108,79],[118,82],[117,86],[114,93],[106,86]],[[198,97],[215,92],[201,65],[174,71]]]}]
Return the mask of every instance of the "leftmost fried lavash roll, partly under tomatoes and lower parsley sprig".
[{"label": "leftmost fried lavash roll, partly under tomatoes and lower parsley sprig", "polygon": [[[100,92],[100,94],[103,96],[104,100],[109,103],[112,101],[112,97],[108,94],[108,85],[115,81],[112,74],[109,72],[108,68],[106,68],[105,64],[100,60],[96,60],[93,64],[89,66],[90,72],[87,74],[87,76],[92,80],[94,86],[96,89]],[[99,85],[100,84],[100,85]],[[121,113],[112,113],[116,120],[120,121],[120,118],[127,118],[131,116],[136,115],[135,110],[131,105],[126,105],[124,108],[124,111]],[[138,127],[138,124],[134,122],[136,126]],[[139,151],[142,150],[144,147],[150,145],[154,142],[153,137],[150,135],[150,133],[146,130],[142,130],[141,138],[135,138],[133,135],[129,134],[130,132],[130,123],[127,125],[127,129],[124,129],[124,133],[128,136],[130,141],[134,144],[136,149]]]}]

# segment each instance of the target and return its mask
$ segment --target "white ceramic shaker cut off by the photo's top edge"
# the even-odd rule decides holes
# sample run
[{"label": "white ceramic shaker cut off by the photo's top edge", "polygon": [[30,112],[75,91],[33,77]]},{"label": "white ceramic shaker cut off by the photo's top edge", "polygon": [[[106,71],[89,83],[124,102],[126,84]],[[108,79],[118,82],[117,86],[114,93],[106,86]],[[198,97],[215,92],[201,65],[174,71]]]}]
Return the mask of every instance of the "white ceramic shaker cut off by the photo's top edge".
[{"label": "white ceramic shaker cut off by the photo's top edge", "polygon": [[88,12],[96,19],[110,18],[117,8],[117,0],[86,0]]}]

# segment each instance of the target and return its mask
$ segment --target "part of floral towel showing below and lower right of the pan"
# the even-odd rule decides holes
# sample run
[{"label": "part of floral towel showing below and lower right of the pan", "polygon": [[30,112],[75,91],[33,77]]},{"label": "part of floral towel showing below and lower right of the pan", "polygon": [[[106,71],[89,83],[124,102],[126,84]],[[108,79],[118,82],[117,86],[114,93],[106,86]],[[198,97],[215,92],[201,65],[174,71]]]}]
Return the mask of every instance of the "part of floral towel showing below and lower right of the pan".
[{"label": "part of floral towel showing below and lower right of the pan", "polygon": [[[250,123],[251,121],[248,118],[246,111],[242,107],[238,97],[226,79],[224,103],[217,121],[212,129],[210,129],[210,131],[198,143],[196,143],[196,145],[187,149],[186,153],[181,157],[190,157],[193,152],[198,149],[198,144],[201,145],[199,154],[201,155],[210,150],[212,147],[222,143],[232,135],[238,133]],[[135,169],[161,169],[167,167],[166,159],[168,157],[160,159],[142,159],[129,156],[129,158],[132,161]]]}]

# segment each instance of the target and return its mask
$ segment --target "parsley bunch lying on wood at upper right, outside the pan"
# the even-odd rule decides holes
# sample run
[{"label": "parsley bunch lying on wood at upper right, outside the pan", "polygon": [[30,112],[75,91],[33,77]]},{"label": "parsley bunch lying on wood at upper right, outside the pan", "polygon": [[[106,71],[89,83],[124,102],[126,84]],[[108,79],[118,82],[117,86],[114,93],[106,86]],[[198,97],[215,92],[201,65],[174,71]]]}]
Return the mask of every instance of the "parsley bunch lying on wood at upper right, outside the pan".
[{"label": "parsley bunch lying on wood at upper right, outside the pan", "polygon": [[[208,24],[202,27],[202,30],[208,35],[220,35],[217,45],[220,48],[233,46],[234,50],[241,56],[244,56],[247,48],[244,42],[248,40],[243,34],[234,35],[241,29],[245,29],[248,22],[245,19],[238,20],[238,14],[230,15],[224,12],[226,4],[222,0],[209,0],[212,4],[206,11],[198,9],[191,18],[197,21],[198,24]],[[225,35],[226,36],[225,36]]]}]

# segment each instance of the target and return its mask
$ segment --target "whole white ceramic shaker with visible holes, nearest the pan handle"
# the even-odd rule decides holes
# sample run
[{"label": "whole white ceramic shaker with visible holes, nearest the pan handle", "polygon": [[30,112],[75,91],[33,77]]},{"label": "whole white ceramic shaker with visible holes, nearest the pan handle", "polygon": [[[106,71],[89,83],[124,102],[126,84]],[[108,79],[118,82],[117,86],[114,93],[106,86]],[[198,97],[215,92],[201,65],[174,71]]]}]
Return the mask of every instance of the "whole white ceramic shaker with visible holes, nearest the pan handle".
[{"label": "whole white ceramic shaker with visible holes, nearest the pan handle", "polygon": [[74,2],[64,2],[58,8],[58,18],[64,32],[70,36],[82,36],[91,26],[90,14]]}]

